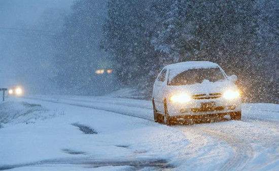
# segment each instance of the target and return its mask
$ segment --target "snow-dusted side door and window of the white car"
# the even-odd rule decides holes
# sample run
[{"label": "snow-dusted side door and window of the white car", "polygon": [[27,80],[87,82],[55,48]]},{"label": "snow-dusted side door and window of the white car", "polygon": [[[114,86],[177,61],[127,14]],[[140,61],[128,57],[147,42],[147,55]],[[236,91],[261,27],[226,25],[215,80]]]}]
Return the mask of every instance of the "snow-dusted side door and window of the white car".
[{"label": "snow-dusted side door and window of the white car", "polygon": [[154,101],[155,101],[155,106],[159,112],[164,111],[164,106],[163,106],[163,95],[164,95],[164,87],[165,87],[165,82],[166,82],[166,73],[167,70],[163,69],[161,73],[159,74],[156,83],[155,83],[155,96],[154,96]]}]

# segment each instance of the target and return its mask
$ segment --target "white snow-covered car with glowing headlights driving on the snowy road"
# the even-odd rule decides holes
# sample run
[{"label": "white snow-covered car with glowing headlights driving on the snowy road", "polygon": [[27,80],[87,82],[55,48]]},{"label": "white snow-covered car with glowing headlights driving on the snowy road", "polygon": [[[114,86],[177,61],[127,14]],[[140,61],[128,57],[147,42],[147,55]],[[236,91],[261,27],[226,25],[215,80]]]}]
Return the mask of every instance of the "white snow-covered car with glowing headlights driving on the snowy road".
[{"label": "white snow-covered car with glowing headlights driving on the snowy road", "polygon": [[[216,63],[190,61],[165,66],[153,87],[154,120],[173,125],[212,118],[241,119],[236,75]],[[226,117],[225,117],[226,116]]]}]

